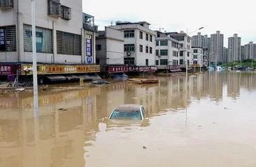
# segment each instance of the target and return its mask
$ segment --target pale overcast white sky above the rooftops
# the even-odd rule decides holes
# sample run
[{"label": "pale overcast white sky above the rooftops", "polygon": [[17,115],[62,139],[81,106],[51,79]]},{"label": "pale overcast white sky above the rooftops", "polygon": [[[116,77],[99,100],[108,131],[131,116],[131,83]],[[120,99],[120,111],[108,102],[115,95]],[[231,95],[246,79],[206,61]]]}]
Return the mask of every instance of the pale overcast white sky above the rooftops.
[{"label": "pale overcast white sky above the rooftops", "polygon": [[[83,12],[94,16],[99,30],[117,21],[150,23],[162,32],[187,32],[210,36],[216,31],[227,38],[238,33],[241,45],[256,43],[255,0],[83,0]],[[197,31],[200,27],[204,27]]]}]

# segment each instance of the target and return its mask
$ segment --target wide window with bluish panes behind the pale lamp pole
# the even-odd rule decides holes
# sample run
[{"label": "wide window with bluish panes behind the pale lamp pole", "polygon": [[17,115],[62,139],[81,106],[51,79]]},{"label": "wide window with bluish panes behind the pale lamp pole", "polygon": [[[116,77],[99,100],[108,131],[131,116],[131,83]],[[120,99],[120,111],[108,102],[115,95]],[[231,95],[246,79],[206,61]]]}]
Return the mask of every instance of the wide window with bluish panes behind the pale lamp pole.
[{"label": "wide window with bluish panes behind the pale lamp pole", "polygon": [[[32,51],[31,26],[23,26],[24,51]],[[36,52],[52,54],[52,30],[36,27]]]}]

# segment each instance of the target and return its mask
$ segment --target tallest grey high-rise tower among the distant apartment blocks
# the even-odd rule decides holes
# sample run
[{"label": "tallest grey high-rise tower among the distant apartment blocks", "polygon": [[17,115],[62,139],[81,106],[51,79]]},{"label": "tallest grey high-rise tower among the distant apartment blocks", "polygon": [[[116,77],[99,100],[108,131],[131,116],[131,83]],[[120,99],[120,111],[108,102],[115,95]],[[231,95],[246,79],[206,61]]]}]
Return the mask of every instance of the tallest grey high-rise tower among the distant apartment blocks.
[{"label": "tallest grey high-rise tower among the distant apartment blocks", "polygon": [[223,62],[223,34],[220,31],[211,34],[209,51],[209,65],[218,65]]}]

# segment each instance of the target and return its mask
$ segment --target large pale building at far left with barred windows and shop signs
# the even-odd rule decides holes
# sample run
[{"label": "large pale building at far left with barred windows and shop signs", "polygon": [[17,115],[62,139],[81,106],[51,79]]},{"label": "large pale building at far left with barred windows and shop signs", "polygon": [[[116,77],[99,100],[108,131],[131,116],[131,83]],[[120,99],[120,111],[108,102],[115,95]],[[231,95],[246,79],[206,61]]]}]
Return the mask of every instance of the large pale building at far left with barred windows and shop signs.
[{"label": "large pale building at far left with barred windows and shop signs", "polygon": [[[97,26],[92,16],[83,14],[82,1],[34,3],[38,74],[99,71],[93,65]],[[0,33],[0,74],[26,73],[32,62],[31,1],[1,0]]]}]

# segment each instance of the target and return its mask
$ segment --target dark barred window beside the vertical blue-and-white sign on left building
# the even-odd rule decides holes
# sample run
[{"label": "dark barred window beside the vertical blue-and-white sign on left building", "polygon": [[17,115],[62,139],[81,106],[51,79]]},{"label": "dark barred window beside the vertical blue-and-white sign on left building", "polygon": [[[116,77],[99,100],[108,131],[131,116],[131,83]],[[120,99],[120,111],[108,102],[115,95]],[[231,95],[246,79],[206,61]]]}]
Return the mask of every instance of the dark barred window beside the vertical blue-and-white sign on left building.
[{"label": "dark barred window beside the vertical blue-and-white sign on left building", "polygon": [[81,55],[81,35],[57,31],[57,54]]}]

